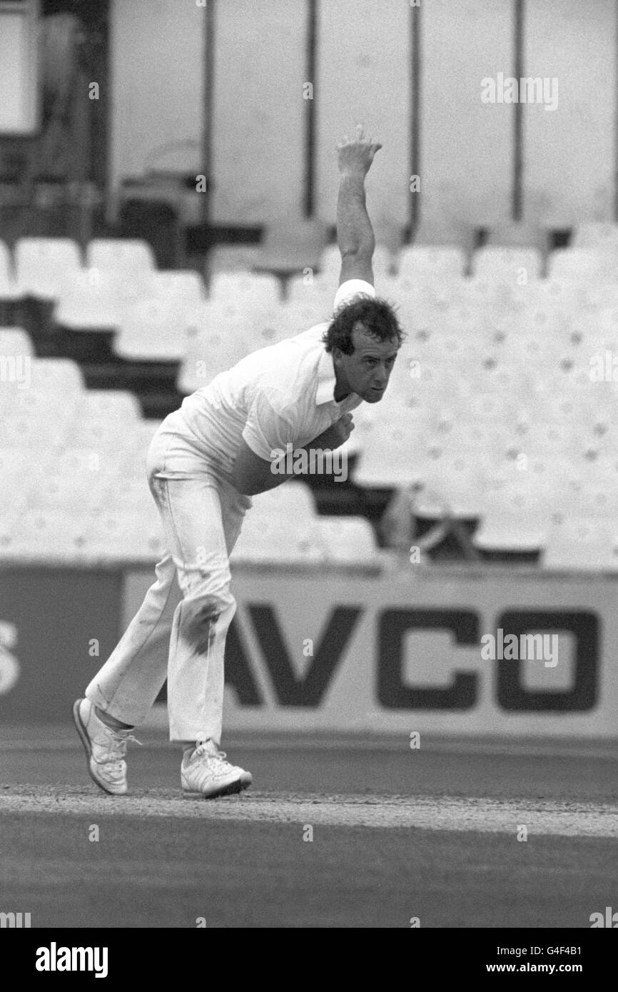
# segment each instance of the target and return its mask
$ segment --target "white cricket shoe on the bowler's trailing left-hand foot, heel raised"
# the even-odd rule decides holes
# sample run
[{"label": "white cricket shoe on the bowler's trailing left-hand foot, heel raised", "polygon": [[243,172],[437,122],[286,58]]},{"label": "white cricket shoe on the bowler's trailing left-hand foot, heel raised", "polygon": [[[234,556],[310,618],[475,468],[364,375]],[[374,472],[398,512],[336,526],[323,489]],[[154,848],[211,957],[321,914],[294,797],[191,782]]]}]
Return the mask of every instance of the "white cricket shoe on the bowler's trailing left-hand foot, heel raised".
[{"label": "white cricket shoe on the bowler's trailing left-hand foot, heel raised", "polygon": [[89,699],[73,703],[73,721],[88,759],[90,778],[111,796],[127,791],[127,763],[124,760],[129,741],[140,742],[130,730],[112,730],[99,720]]}]

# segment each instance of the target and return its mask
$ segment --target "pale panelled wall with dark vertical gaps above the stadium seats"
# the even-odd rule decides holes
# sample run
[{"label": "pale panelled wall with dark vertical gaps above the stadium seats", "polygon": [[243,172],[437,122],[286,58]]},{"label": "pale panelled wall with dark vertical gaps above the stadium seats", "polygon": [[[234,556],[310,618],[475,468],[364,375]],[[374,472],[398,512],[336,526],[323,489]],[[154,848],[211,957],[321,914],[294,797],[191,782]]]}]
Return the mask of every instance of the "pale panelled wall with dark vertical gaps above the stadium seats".
[{"label": "pale panelled wall with dark vertical gaps above the stadium seats", "polygon": [[[424,216],[508,217],[513,117],[483,103],[481,80],[515,71],[513,0],[423,0],[421,203]],[[320,0],[316,78],[306,79],[307,0],[218,0],[214,219],[300,215],[304,85],[316,111],[316,211],[334,217],[339,136],[364,120],[384,143],[369,179],[378,221],[410,206],[410,21],[406,0]],[[205,10],[196,0],[114,0],[111,173],[160,162],[198,173]],[[524,73],[557,79],[556,109],[524,114],[524,211],[565,226],[611,218],[616,117],[613,0],[527,0]]]}]

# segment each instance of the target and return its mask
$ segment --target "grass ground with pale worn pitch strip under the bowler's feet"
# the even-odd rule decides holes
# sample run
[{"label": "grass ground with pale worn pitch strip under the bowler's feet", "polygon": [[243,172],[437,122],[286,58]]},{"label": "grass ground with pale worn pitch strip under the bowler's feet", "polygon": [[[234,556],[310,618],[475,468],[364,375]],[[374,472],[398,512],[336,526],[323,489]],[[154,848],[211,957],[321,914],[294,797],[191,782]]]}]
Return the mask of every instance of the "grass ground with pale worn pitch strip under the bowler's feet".
[{"label": "grass ground with pale worn pitch strip under the bowler's feet", "polygon": [[226,746],[254,788],[205,802],[182,797],[177,749],[141,739],[114,799],[70,728],[3,728],[0,912],[33,928],[589,928],[616,905],[615,744],[245,736]]}]

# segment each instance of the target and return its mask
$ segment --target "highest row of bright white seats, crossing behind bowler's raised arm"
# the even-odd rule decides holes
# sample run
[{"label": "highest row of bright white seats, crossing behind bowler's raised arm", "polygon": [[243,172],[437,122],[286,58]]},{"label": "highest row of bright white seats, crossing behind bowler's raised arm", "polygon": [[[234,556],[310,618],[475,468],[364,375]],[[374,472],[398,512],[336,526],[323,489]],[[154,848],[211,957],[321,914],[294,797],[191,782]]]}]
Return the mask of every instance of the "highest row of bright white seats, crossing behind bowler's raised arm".
[{"label": "highest row of bright white seats, crossing behind bowler's raised arm", "polygon": [[[548,259],[549,279],[570,279],[577,283],[616,283],[618,249],[561,248]],[[95,239],[85,252],[85,264],[76,242],[64,238],[22,238],[16,242],[13,256],[0,241],[0,298],[16,299],[24,295],[39,296],[61,302],[61,311],[70,314],[73,299],[86,297],[106,301],[109,306],[174,296],[185,304],[199,302],[205,289],[197,273],[192,271],[159,272],[150,246],[139,240]],[[332,288],[340,269],[336,245],[326,247],[319,260],[319,269],[310,269],[297,284],[317,283]],[[487,245],[477,249],[471,258],[470,275],[476,280],[509,282],[527,286],[539,281],[544,269],[541,253],[535,248],[505,248]],[[378,282],[395,282],[400,287],[410,281],[434,281],[440,284],[456,282],[468,273],[466,256],[454,246],[414,245],[401,250],[396,259],[384,245],[377,245],[374,271]],[[397,278],[394,279],[393,277]],[[274,276],[242,272],[219,272],[213,277],[210,296],[231,300],[238,294],[251,293],[254,302],[272,304],[280,299],[280,283]]]}]

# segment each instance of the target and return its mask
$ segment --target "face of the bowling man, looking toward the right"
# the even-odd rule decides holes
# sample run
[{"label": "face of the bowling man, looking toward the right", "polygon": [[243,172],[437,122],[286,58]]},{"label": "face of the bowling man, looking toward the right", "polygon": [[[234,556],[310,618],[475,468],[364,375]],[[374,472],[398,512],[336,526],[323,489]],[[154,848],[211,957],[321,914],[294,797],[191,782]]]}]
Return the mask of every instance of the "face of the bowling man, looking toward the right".
[{"label": "face of the bowling man, looking toward the right", "polygon": [[366,403],[379,403],[388,386],[399,344],[397,340],[376,340],[360,320],[352,330],[352,343],[351,355],[343,354],[339,348],[332,349],[337,380],[334,398],[339,402],[349,393],[357,393]]}]

